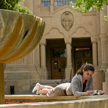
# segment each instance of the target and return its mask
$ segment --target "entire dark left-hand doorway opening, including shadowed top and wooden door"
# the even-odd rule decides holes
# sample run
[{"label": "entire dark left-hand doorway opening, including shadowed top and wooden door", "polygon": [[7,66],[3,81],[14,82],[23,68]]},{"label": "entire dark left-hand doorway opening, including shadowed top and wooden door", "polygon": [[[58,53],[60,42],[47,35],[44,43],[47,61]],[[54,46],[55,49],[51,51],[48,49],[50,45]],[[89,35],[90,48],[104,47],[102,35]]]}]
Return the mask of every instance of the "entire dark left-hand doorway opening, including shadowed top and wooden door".
[{"label": "entire dark left-hand doorway opening, including shadowed top and wooden door", "polygon": [[66,45],[64,39],[47,40],[48,79],[63,79],[65,77]]}]

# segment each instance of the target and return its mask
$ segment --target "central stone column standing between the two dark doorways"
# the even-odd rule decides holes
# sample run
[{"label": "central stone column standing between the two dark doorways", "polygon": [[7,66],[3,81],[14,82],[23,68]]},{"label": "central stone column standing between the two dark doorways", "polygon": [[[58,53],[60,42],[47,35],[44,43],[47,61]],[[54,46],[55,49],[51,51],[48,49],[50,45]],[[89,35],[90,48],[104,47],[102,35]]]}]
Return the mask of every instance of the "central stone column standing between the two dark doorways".
[{"label": "central stone column standing between the two dark doorways", "polygon": [[[65,69],[65,79],[70,79],[71,71],[72,71],[72,54],[71,54],[71,39],[65,39],[66,43],[66,56],[67,56],[67,66]],[[73,75],[73,73],[72,73]]]}]

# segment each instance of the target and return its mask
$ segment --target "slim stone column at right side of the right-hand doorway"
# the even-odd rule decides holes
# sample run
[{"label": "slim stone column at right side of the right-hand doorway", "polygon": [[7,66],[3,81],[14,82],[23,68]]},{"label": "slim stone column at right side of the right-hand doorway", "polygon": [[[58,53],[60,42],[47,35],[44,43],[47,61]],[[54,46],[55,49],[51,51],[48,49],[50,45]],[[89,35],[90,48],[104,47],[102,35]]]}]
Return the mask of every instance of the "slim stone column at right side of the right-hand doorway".
[{"label": "slim stone column at right side of the right-hand doorway", "polygon": [[96,40],[92,40],[92,50],[93,50],[93,65],[97,67],[97,43]]}]

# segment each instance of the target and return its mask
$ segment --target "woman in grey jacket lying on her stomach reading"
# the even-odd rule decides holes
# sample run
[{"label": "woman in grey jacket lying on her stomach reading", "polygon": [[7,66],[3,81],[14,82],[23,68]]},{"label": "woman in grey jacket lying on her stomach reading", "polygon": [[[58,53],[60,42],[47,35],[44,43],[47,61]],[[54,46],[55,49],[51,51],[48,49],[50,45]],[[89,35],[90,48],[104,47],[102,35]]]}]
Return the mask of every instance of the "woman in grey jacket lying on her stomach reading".
[{"label": "woman in grey jacket lying on her stomach reading", "polygon": [[71,83],[63,83],[56,87],[45,86],[39,83],[33,88],[32,92],[36,94],[46,94],[52,96],[87,96],[93,94],[93,80],[94,66],[86,63],[81,66],[76,75],[72,78]]}]

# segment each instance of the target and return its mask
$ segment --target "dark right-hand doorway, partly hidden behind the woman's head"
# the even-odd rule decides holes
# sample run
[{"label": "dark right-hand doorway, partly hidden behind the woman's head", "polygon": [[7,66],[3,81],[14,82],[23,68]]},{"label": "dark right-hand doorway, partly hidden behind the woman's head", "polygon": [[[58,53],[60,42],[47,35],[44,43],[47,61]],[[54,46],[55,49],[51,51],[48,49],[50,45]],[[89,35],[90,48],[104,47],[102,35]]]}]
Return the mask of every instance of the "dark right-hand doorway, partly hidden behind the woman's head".
[{"label": "dark right-hand doorway, partly hidden behind the woman's head", "polygon": [[75,74],[82,64],[92,63],[92,44],[90,38],[74,38],[72,42]]}]

